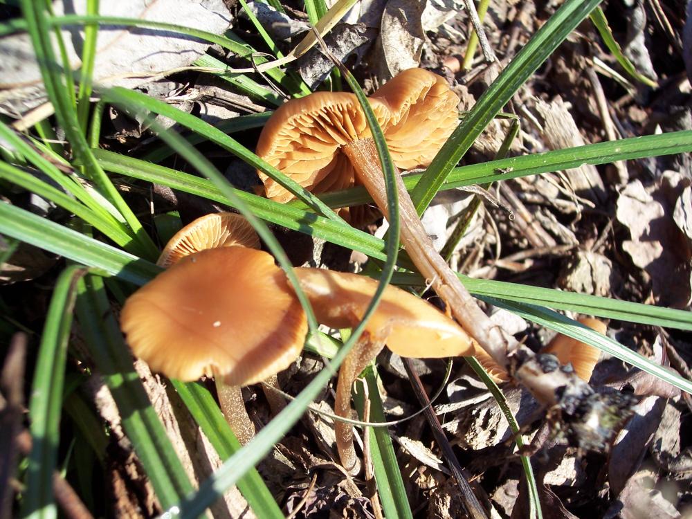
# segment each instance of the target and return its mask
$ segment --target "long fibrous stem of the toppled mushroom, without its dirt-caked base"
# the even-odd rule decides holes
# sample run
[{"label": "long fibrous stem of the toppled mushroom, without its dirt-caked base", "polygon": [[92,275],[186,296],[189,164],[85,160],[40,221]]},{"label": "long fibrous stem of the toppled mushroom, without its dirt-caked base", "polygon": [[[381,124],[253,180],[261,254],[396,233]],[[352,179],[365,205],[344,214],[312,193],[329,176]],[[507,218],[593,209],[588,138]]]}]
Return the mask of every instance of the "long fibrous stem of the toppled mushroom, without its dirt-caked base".
[{"label": "long fibrous stem of the toppled mushroom, without its dirt-caked base", "polygon": [[[383,215],[388,218],[387,192],[374,140],[354,140],[343,146],[342,150],[351,159],[358,179],[365,185],[365,189]],[[477,340],[496,363],[507,367],[507,352],[512,345],[508,344],[508,340],[502,336],[498,327],[493,325],[478,307],[457,275],[435,251],[399,175],[396,176],[396,181],[399,192],[401,242],[406,252],[419,272],[432,284],[437,295],[447,304],[459,324]]]}]

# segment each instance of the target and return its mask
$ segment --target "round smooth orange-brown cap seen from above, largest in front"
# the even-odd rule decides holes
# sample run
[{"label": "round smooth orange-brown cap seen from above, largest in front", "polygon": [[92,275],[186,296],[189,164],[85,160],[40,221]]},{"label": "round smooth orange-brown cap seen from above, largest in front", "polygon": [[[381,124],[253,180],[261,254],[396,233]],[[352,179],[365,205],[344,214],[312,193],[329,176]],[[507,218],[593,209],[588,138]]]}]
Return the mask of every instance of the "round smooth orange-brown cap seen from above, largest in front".
[{"label": "round smooth orange-brown cap seen from above, largest in front", "polygon": [[238,246],[184,257],[125,302],[134,354],[172,379],[262,381],[300,354],[307,320],[273,257]]}]

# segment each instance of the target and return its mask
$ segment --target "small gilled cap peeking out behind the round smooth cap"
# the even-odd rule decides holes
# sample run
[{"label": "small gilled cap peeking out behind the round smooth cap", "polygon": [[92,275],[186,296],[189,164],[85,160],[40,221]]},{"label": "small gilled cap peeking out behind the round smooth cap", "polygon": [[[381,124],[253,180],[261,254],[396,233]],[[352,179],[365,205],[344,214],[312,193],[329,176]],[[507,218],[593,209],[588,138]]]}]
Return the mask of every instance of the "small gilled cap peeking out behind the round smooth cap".
[{"label": "small gilled cap peeking out behind the round smooth cap", "polygon": [[250,223],[235,212],[204,215],[183,227],[168,241],[156,264],[165,268],[206,248],[239,245],[260,248],[260,237]]}]

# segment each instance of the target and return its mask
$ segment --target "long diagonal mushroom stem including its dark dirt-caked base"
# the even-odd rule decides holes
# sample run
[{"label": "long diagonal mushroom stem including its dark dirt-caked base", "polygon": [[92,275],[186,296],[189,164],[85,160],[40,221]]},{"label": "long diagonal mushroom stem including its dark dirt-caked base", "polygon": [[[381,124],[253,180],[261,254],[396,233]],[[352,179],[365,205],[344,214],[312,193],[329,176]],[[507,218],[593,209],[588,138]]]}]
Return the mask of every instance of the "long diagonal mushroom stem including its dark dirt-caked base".
[{"label": "long diagonal mushroom stem including its dark dirt-caked base", "polygon": [[[356,140],[342,150],[351,159],[358,179],[388,217],[384,176],[374,140]],[[524,385],[539,403],[554,408],[552,412],[559,415],[574,433],[573,443],[583,448],[604,448],[612,434],[612,424],[617,424],[626,416],[632,400],[621,394],[597,394],[588,383],[574,374],[571,367],[561,368],[554,356],[536,355],[514,338],[505,338],[478,307],[456,273],[435,251],[403,181],[398,175],[396,180],[401,242],[412,262],[444,300],[454,318],[495,363]]]}]

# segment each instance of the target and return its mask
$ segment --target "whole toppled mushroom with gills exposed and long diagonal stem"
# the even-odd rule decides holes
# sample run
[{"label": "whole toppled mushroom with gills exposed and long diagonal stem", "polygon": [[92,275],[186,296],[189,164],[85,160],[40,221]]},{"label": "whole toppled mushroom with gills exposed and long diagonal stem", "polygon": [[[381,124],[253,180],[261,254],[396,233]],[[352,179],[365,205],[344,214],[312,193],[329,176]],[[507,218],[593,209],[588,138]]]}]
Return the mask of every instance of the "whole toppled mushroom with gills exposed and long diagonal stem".
[{"label": "whole toppled mushroom with gills exposed and long diagonal stem", "polygon": [[[370,98],[400,167],[424,167],[457,125],[459,98],[446,81],[422,69],[403,71]],[[385,217],[387,195],[379,156],[355,95],[317,92],[291,100],[268,120],[257,154],[313,192],[349,187],[357,179]],[[292,195],[262,172],[267,197]],[[334,176],[335,179],[332,179]],[[499,365],[507,365],[505,338],[478,307],[432,246],[403,182],[397,176],[401,242],[419,272],[455,319]]]}]

